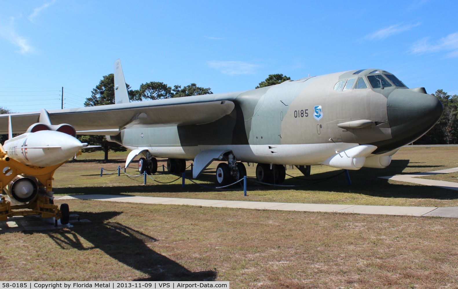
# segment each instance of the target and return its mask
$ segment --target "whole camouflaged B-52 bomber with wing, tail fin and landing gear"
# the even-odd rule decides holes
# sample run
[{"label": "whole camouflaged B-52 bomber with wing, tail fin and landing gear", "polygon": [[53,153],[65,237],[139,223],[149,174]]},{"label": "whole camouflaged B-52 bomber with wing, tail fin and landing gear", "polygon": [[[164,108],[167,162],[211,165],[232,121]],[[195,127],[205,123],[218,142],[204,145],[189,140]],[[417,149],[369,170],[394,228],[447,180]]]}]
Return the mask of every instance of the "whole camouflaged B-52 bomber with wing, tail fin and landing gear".
[{"label": "whole camouflaged B-52 bomber with wing, tail fin and landing gear", "polygon": [[[425,88],[408,88],[393,74],[363,69],[287,80],[249,91],[129,102],[120,60],[114,63],[115,104],[48,111],[52,123],[77,134],[106,135],[137,156],[141,172],[155,173],[168,158],[172,173],[194,161],[193,177],[215,160],[219,185],[257,163],[260,182],[280,184],[285,165],[304,174],[311,165],[384,168],[400,147],[419,139],[442,115]],[[40,112],[0,116],[5,134],[37,123]]]}]

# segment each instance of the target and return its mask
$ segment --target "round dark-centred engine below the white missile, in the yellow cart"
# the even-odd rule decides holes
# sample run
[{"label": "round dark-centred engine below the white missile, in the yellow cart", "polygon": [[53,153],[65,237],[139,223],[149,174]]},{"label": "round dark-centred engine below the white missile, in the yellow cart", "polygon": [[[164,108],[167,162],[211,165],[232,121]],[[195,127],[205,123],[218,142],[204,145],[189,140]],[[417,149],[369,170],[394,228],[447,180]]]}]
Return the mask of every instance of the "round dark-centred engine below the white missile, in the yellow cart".
[{"label": "round dark-centred engine below the white missile, in the yellow cart", "polygon": [[35,177],[16,176],[3,190],[10,197],[11,203],[24,204],[33,201],[38,195],[38,182]]}]

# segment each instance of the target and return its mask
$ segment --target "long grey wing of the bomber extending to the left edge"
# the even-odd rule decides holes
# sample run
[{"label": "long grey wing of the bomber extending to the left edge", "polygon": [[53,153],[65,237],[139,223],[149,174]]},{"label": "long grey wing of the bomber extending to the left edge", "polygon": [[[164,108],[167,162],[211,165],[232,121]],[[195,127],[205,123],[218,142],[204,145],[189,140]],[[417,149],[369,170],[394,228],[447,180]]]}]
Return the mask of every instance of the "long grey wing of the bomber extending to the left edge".
[{"label": "long grey wing of the bomber extending to the left edge", "polygon": [[[238,93],[234,93],[236,95]],[[215,100],[216,95],[187,96],[145,102],[48,111],[53,124],[68,123],[78,134],[116,135],[120,129],[154,126],[182,126],[210,123],[232,112],[234,102]],[[232,94],[227,94],[233,99]],[[24,133],[38,123],[40,112],[0,115],[0,134],[8,134],[11,116],[13,133]]]}]

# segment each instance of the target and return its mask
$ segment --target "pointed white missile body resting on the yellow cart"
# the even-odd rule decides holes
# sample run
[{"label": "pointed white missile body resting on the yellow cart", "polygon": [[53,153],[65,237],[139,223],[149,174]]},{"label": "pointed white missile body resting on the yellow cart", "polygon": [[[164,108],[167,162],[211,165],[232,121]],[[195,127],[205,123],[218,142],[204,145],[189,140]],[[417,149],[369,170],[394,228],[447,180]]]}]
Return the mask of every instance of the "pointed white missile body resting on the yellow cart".
[{"label": "pointed white missile body resting on the yellow cart", "polygon": [[70,134],[40,130],[5,141],[3,149],[13,160],[29,166],[54,166],[68,161],[87,144]]}]

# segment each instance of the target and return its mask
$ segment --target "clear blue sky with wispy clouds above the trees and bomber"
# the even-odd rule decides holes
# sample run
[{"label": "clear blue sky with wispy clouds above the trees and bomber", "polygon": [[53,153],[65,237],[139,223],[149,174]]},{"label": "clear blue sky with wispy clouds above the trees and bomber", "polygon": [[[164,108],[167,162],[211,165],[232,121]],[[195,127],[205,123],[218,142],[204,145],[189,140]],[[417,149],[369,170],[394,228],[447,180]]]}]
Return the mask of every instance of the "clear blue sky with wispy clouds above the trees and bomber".
[{"label": "clear blue sky with wispy clouds above the trees and bomber", "polygon": [[214,93],[379,68],[458,94],[457,1],[0,0],[0,106],[81,107],[121,59],[126,82]]}]

